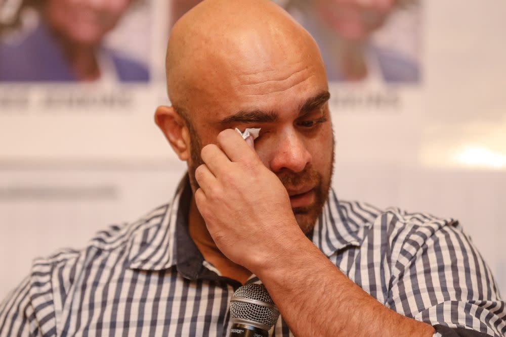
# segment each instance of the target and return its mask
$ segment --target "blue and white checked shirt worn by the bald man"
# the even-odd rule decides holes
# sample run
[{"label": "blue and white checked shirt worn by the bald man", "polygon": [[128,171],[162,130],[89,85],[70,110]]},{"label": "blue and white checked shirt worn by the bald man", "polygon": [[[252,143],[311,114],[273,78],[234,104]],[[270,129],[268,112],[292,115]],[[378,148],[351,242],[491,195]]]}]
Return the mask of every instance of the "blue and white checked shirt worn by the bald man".
[{"label": "blue and white checked shirt worn by the bald man", "polygon": [[[190,198],[186,177],[170,204],[99,232],[84,249],[34,260],[0,304],[0,336],[227,336],[240,283],[220,276],[191,240]],[[456,221],[338,202],[331,190],[311,235],[368,294],[434,325],[435,335],[506,333],[505,302]],[[271,333],[292,335],[282,317]]]}]

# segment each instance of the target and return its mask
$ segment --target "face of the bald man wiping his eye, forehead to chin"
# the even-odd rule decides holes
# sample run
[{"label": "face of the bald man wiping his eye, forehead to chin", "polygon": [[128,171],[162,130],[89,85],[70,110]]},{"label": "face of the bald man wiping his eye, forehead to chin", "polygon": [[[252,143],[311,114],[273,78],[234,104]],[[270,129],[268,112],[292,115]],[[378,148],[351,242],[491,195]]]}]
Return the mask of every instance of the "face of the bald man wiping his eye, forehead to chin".
[{"label": "face of the bald man wiping his eye, forehead to chin", "polygon": [[255,150],[285,186],[300,227],[309,232],[327,199],[332,175],[324,68],[319,57],[305,51],[269,55],[269,62],[261,62],[257,56],[265,50],[244,42],[250,58],[239,65],[210,68],[210,81],[203,80],[191,98],[192,187],[198,188],[194,171],[202,164],[203,146],[216,143],[224,129],[260,127]]}]

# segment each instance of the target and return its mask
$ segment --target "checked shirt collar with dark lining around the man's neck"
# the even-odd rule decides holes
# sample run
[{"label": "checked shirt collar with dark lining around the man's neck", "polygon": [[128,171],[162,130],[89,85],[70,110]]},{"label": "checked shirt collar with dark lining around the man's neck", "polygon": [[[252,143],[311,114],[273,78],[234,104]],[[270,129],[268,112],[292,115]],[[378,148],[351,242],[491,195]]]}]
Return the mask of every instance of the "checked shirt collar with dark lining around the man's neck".
[{"label": "checked shirt collar with dark lining around the man's neck", "polygon": [[[204,258],[188,232],[188,211],[191,201],[188,174],[181,180],[174,199],[163,208],[158,222],[150,224],[145,217],[132,236],[129,266],[140,270],[163,270],[177,266],[186,278],[197,279],[215,272],[204,266]],[[313,233],[308,236],[327,257],[350,246],[360,246],[363,224],[349,216],[333,189],[320,214]],[[161,219],[161,221],[159,220]]]}]

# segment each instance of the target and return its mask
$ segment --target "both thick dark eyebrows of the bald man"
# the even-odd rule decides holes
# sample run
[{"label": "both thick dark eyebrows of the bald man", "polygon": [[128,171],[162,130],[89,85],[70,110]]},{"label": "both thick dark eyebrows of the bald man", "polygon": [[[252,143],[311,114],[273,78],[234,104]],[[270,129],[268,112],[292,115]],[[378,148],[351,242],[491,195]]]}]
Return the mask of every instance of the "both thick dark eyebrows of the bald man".
[{"label": "both thick dark eyebrows of the bald man", "polygon": [[[317,95],[310,97],[299,106],[299,117],[317,109],[330,99],[328,91],[322,91]],[[274,111],[264,110],[241,110],[231,116],[225,117],[220,121],[221,124],[230,123],[273,123],[278,120],[278,115]]]}]

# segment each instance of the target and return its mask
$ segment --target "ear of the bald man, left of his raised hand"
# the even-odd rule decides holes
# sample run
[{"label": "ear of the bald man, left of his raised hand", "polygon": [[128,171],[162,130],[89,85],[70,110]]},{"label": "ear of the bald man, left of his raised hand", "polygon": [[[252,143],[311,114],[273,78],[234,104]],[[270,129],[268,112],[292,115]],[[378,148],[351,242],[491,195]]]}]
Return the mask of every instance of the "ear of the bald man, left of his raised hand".
[{"label": "ear of the bald man, left of his raised hand", "polygon": [[173,107],[159,106],[155,112],[155,123],[171,143],[182,161],[190,157],[190,135],[185,121]]}]

